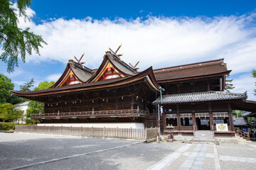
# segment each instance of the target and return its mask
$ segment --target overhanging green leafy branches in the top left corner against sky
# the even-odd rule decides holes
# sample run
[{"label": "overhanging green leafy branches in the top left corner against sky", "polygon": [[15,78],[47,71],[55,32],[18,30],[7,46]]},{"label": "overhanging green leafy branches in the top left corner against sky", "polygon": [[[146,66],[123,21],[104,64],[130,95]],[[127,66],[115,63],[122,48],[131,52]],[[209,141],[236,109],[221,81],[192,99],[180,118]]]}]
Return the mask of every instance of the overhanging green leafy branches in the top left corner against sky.
[{"label": "overhanging green leafy branches in the top left corner against sky", "polygon": [[18,67],[18,57],[25,62],[26,55],[31,55],[32,50],[40,55],[39,47],[47,45],[41,35],[30,32],[29,28],[18,28],[18,16],[29,21],[28,6],[31,6],[31,0],[0,0],[0,45],[3,51],[0,60],[7,64],[7,72],[14,72],[14,67]]}]

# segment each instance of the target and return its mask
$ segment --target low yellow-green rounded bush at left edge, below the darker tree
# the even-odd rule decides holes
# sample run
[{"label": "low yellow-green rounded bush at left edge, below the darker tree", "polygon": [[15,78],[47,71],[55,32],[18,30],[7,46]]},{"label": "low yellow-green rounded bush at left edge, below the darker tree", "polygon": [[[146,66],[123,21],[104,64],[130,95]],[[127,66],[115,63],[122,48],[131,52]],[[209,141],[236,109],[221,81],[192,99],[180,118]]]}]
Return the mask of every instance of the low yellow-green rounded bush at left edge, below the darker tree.
[{"label": "low yellow-green rounded bush at left edge, below the darker tree", "polygon": [[4,122],[21,118],[23,111],[14,110],[14,108],[15,106],[11,103],[0,104],[0,119]]}]

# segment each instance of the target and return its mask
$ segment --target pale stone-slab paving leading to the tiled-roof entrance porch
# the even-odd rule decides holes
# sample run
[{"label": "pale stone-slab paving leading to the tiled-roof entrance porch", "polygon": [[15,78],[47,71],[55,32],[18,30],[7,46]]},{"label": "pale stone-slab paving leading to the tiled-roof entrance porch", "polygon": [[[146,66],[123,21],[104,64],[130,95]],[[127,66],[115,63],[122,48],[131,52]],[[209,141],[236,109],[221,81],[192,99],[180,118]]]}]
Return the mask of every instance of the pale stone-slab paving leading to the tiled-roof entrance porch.
[{"label": "pale stone-slab paving leading to the tiled-roof entrance porch", "polygon": [[185,144],[149,169],[256,169],[256,142]]}]

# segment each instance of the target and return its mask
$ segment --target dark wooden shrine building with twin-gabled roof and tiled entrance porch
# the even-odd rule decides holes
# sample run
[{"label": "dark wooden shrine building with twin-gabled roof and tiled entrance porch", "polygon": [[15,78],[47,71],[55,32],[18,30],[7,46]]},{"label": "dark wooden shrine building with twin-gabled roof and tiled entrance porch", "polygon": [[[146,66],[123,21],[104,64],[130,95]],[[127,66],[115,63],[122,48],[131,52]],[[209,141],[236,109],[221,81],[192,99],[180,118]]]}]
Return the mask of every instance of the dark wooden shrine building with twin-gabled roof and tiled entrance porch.
[{"label": "dark wooden shrine building with twin-gabled roof and tiled entrance porch", "polygon": [[[50,88],[11,93],[45,104],[43,113],[31,115],[39,125],[151,128],[157,125],[156,106],[161,105],[164,133],[173,125],[177,135],[193,135],[195,130],[235,134],[232,111],[247,108],[247,94],[224,91],[231,70],[223,59],[139,72],[139,62],[127,64],[118,50],[107,51],[98,69],[75,58]],[[162,98],[160,89],[165,89]],[[256,106],[247,111],[255,112]]]}]

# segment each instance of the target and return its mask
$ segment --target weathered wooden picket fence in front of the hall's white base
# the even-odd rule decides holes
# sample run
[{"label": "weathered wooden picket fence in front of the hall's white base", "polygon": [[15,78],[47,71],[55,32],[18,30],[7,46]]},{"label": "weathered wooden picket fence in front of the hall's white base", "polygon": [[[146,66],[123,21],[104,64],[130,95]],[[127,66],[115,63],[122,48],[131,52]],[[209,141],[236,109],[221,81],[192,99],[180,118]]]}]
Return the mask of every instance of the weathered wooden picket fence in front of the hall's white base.
[{"label": "weathered wooden picket fence in front of the hall's white base", "polygon": [[85,137],[116,137],[147,140],[157,136],[157,128],[87,128],[63,126],[16,125],[16,132],[36,132],[55,135],[75,135]]}]

